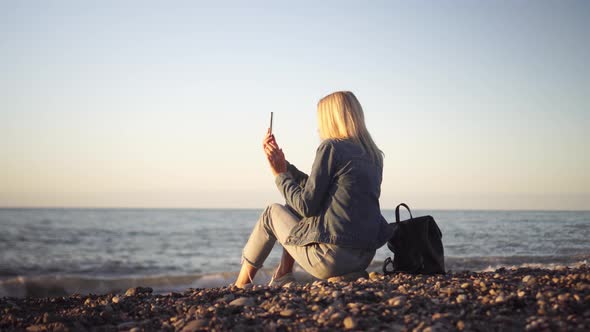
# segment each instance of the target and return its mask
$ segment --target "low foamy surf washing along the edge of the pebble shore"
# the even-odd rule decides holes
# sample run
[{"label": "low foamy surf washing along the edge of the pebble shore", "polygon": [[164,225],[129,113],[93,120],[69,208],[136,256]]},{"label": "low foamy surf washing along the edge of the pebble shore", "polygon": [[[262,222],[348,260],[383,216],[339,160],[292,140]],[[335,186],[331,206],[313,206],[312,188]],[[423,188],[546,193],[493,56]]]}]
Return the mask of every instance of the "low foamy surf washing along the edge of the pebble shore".
[{"label": "low foamy surf washing along the edge of the pebble shore", "polygon": [[[506,257],[445,257],[447,271],[494,271],[498,268],[535,267],[557,269],[587,264],[588,255],[575,256],[506,256]],[[380,272],[382,261],[375,260],[368,271]],[[272,269],[262,269],[256,275],[256,284],[269,282]],[[300,268],[295,278],[302,282],[314,278]],[[104,294],[123,292],[131,287],[151,287],[155,293],[181,292],[188,288],[213,288],[233,283],[238,272],[220,272],[192,275],[157,275],[137,277],[97,278],[92,276],[45,275],[18,276],[0,280],[0,297],[53,297],[71,294]]]}]

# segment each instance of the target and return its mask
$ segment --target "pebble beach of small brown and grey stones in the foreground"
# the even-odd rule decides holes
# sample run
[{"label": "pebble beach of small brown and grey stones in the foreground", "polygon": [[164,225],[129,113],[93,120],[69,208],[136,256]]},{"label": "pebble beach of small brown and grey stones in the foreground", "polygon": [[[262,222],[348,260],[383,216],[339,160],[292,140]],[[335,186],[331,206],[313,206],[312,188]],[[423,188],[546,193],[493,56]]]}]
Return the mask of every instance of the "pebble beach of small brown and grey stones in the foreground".
[{"label": "pebble beach of small brown and grey stones in the foreground", "polygon": [[590,268],[0,299],[2,331],[588,331]]}]

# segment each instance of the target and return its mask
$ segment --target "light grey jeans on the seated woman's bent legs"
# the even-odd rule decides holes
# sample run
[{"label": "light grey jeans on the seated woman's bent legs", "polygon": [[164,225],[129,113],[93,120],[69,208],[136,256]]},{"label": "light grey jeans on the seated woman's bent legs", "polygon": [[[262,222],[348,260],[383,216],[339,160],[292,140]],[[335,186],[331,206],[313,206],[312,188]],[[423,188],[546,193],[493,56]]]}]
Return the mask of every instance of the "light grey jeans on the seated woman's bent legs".
[{"label": "light grey jeans on the seated woman's bent legs", "polygon": [[242,252],[242,261],[260,269],[276,241],[312,276],[319,279],[365,270],[375,250],[339,247],[327,243],[305,246],[285,245],[291,229],[299,219],[285,206],[269,205],[254,226]]}]

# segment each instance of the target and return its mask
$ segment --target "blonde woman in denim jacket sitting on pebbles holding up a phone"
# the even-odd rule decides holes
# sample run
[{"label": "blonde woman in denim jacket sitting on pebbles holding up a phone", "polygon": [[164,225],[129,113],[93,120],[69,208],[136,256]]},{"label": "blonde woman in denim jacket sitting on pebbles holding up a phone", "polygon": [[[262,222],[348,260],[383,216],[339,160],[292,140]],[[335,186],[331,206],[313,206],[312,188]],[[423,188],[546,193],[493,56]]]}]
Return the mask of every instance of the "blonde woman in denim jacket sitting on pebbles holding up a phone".
[{"label": "blonde woman in denim jacket sitting on pebbles holding up a phone", "polygon": [[287,205],[268,206],[254,226],[238,287],[252,282],[276,241],[283,256],[271,285],[284,285],[294,281],[295,261],[319,279],[366,275],[376,249],[391,236],[379,208],[383,154],[367,131],[360,103],[352,92],[335,92],[320,100],[317,116],[322,142],[309,176],[285,160],[270,130],[264,138]]}]

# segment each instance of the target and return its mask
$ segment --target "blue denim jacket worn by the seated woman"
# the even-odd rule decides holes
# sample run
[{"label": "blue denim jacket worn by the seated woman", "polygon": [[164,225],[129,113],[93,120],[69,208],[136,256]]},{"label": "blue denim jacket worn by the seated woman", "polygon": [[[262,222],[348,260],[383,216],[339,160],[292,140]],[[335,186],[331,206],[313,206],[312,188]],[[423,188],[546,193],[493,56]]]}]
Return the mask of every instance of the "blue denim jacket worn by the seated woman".
[{"label": "blue denim jacket worn by the seated woman", "polygon": [[287,163],[276,185],[287,206],[302,220],[285,244],[329,243],[377,249],[392,229],[381,215],[383,167],[351,140],[324,140],[308,176]]}]

